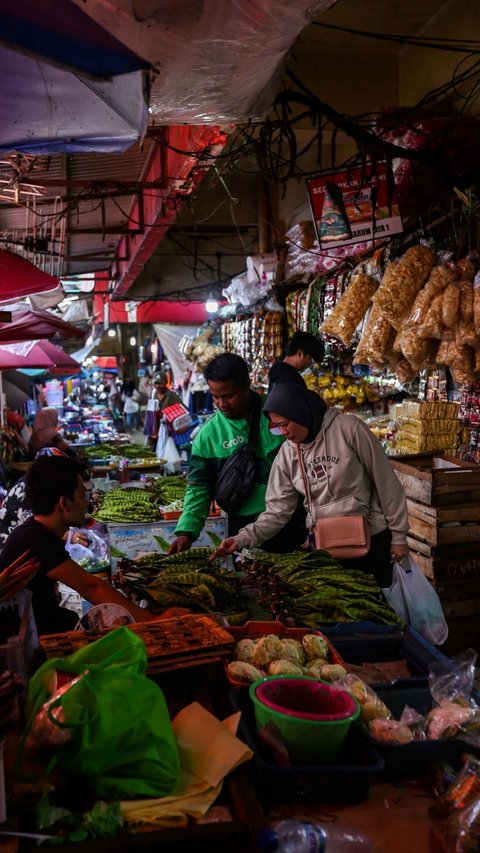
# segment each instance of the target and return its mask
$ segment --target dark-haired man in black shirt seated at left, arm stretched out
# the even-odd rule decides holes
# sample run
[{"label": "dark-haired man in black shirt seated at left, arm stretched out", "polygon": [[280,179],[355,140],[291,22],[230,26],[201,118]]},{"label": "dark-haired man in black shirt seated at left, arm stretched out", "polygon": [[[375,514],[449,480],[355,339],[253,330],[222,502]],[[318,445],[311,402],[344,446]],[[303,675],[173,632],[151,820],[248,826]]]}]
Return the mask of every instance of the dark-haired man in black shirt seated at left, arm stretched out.
[{"label": "dark-haired man in black shirt seated at left, arm stretched out", "polygon": [[[82,527],[85,521],[88,491],[83,471],[82,465],[73,459],[57,456],[36,459],[26,478],[26,497],[33,517],[12,531],[0,553],[0,571],[25,552],[40,564],[26,586],[33,592],[32,606],[39,634],[72,630],[78,622],[76,613],[59,606],[58,582],[76,590],[91,604],[121,605],[138,622],[158,618],[130,602],[106,581],[89,574],[65,550],[63,535],[69,527]],[[165,616],[162,614],[162,618]]]}]

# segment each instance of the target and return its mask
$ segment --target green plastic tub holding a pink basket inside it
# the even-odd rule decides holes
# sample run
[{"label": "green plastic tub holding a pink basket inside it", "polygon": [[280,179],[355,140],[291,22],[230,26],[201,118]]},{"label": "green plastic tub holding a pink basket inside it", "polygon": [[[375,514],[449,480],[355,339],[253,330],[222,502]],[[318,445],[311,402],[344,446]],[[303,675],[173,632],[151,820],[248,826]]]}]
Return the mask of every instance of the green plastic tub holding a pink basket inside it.
[{"label": "green plastic tub holding a pink basket inside it", "polygon": [[[297,687],[302,689],[302,682],[312,682],[301,676],[270,676],[267,681],[290,682],[291,690]],[[353,700],[353,709],[348,716],[341,719],[306,719],[305,717],[293,716],[288,712],[276,711],[267,707],[257,696],[257,688],[264,684],[264,680],[255,681],[249,691],[250,699],[255,706],[255,725],[258,729],[267,723],[275,723],[282,740],[288,749],[290,760],[296,764],[332,764],[343,746],[351,724],[358,719],[360,707],[356,699]],[[340,691],[334,690],[330,685],[320,685],[319,689],[325,688],[328,695],[333,698]],[[351,697],[353,698],[353,697]]]}]

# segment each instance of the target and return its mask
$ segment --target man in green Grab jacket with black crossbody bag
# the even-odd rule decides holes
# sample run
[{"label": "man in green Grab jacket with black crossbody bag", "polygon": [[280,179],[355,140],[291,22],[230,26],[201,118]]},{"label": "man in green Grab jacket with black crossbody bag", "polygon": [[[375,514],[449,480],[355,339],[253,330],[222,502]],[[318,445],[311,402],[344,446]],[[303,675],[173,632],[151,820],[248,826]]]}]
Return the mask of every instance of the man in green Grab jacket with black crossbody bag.
[{"label": "man in green Grab jacket with black crossbody bag", "polygon": [[[207,364],[204,375],[217,411],[203,425],[193,442],[184,510],[169,554],[186,551],[198,538],[210,510],[223,463],[249,438],[257,395],[250,387],[247,363],[239,355],[222,353]],[[272,434],[268,419],[261,415],[256,483],[238,513],[229,514],[229,536],[234,536],[249,521],[256,520],[265,509],[268,475],[282,441],[281,436]],[[293,551],[301,545],[305,535],[303,519],[296,515],[280,534],[265,542],[263,548],[266,551]]]}]

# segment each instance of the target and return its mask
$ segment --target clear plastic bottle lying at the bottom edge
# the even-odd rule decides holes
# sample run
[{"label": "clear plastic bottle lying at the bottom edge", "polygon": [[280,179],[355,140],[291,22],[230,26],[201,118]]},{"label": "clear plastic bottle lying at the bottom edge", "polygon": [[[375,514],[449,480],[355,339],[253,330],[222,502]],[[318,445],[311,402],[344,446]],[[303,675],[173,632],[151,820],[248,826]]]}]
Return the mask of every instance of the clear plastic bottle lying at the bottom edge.
[{"label": "clear plastic bottle lying at the bottom edge", "polygon": [[261,853],[373,853],[363,832],[349,826],[282,820],[274,829],[261,829],[257,837]]}]

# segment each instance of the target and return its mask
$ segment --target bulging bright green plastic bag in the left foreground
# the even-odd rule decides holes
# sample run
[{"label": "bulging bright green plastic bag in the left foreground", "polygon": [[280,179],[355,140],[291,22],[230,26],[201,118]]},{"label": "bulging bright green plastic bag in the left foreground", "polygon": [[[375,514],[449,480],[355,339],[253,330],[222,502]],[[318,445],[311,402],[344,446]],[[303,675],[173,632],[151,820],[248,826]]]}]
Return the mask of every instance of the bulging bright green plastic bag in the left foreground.
[{"label": "bulging bright green plastic bag in the left foreground", "polygon": [[[126,627],[116,628],[74,654],[46,661],[30,680],[27,733],[50,698],[52,671],[83,675],[52,704],[53,725],[69,729],[72,740],[50,764],[90,777],[105,799],[162,797],[180,774],[177,745],[160,687],[146,677],[143,640]],[[65,722],[51,711],[61,705]]]}]

